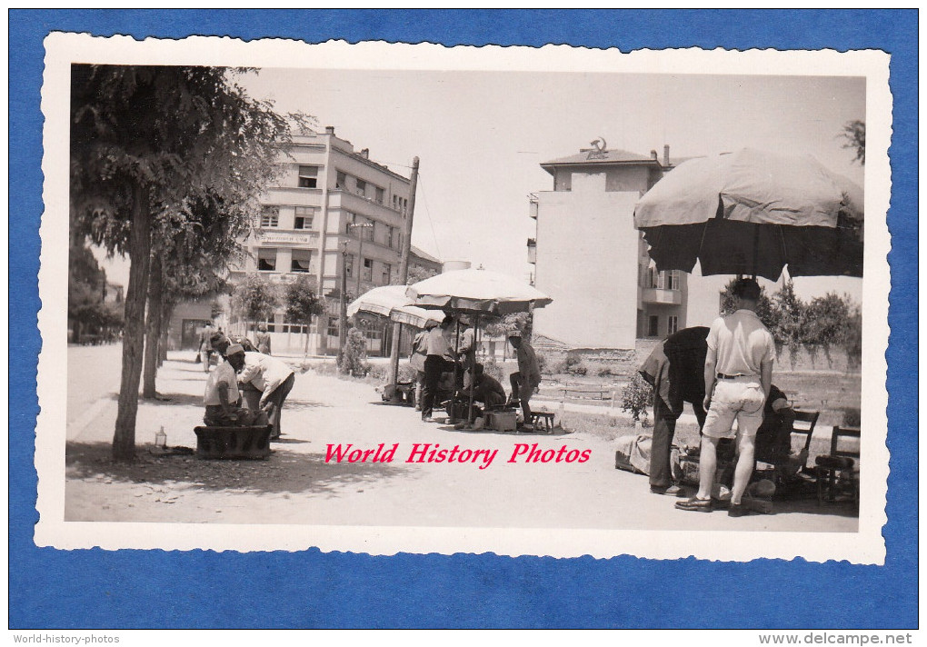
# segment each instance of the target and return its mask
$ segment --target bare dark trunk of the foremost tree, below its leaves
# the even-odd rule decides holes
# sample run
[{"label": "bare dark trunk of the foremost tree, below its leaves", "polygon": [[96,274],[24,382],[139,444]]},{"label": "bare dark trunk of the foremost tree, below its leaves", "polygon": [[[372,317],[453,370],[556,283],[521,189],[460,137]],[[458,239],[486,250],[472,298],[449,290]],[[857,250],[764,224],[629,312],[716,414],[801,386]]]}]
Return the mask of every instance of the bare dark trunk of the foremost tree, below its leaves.
[{"label": "bare dark trunk of the foremost tree, below its leaves", "polygon": [[122,376],[119,409],[113,434],[113,459],[129,462],[135,457],[135,416],[138,383],[142,377],[145,346],[145,300],[151,254],[151,213],[142,187],[134,190],[132,233],[129,239],[129,285],[125,291],[125,332],[122,339]]}]

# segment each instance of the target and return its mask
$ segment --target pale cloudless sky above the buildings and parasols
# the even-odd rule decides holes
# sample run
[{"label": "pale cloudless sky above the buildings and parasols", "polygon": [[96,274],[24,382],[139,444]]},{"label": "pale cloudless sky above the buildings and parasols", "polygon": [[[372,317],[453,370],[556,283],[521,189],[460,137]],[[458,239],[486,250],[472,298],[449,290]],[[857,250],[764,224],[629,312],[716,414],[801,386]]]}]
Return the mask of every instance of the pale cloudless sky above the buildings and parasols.
[{"label": "pale cloudless sky above the buildings and parasols", "polygon": [[[239,82],[280,112],[334,126],[400,174],[417,156],[413,245],[522,278],[534,237],[528,195],[552,189],[540,163],[598,137],[641,155],[662,157],[668,145],[674,158],[744,146],[809,153],[863,184],[840,137],[847,121],[866,120],[857,77],[263,69]],[[119,280],[124,270],[109,265]],[[799,278],[795,287],[803,298],[861,296],[861,281],[845,277]]]}]

